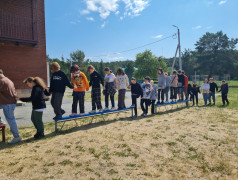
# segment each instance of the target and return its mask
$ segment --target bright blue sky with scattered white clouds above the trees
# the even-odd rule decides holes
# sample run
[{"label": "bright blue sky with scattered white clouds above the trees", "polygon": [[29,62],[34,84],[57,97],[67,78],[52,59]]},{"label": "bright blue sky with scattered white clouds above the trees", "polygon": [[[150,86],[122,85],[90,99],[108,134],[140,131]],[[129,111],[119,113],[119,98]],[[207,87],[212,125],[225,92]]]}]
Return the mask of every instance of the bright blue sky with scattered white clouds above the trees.
[{"label": "bright blue sky with scattered white clouds above the trees", "polygon": [[237,9],[238,0],[45,0],[47,54],[69,58],[82,50],[92,61],[112,62],[148,49],[169,58],[178,43],[172,25],[182,51],[194,50],[206,32],[238,38]]}]

